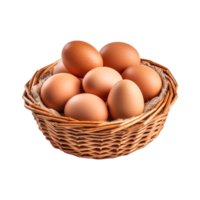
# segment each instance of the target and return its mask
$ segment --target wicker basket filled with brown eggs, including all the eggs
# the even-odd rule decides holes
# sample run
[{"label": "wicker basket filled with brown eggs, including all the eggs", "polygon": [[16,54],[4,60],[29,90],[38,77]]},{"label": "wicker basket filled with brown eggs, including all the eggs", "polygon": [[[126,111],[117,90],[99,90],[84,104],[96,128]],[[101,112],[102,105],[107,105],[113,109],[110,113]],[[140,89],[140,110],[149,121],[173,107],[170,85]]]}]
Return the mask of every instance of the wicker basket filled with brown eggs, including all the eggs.
[{"label": "wicker basket filled with brown eggs, including all the eggs", "polygon": [[24,88],[23,106],[52,148],[107,160],[131,155],[160,136],[180,84],[168,67],[142,58],[130,43],[98,49],[72,40]]}]

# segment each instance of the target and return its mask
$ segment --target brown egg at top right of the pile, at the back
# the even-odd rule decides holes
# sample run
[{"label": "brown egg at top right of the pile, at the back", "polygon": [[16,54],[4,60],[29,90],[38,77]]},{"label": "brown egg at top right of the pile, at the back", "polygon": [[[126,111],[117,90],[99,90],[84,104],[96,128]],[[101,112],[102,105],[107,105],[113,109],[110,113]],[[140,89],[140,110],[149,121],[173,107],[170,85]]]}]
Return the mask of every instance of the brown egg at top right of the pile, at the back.
[{"label": "brown egg at top right of the pile, at the back", "polygon": [[103,65],[117,70],[120,74],[132,65],[140,64],[139,51],[132,44],[113,41],[99,48]]}]

